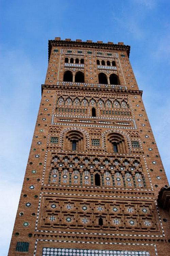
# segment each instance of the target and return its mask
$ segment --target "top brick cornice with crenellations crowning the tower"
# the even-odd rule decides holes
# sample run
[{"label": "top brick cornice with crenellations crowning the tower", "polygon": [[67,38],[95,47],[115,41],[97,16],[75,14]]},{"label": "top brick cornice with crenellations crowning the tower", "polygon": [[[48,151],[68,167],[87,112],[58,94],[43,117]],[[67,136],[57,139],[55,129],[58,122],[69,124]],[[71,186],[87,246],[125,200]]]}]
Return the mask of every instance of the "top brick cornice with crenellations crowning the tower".
[{"label": "top brick cornice with crenellations crowning the tower", "polygon": [[[99,43],[100,42],[100,43]],[[109,50],[109,51],[126,51],[128,57],[130,55],[130,46],[124,45],[123,43],[113,44],[112,42],[102,43],[98,41],[97,43],[88,40],[87,42],[79,41],[66,41],[66,40],[49,40],[48,41],[48,58],[50,59],[52,47],[66,47],[66,48],[88,48],[94,50]]]}]

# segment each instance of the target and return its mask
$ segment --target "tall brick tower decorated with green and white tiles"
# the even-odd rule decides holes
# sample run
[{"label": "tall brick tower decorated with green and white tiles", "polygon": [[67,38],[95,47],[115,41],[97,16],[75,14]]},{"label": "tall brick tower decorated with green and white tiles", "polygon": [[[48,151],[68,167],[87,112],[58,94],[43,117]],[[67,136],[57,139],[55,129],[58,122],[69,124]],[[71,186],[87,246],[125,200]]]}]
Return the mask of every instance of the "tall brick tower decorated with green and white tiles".
[{"label": "tall brick tower decorated with green and white tiles", "polygon": [[170,190],[129,54],[49,41],[9,256],[170,255]]}]

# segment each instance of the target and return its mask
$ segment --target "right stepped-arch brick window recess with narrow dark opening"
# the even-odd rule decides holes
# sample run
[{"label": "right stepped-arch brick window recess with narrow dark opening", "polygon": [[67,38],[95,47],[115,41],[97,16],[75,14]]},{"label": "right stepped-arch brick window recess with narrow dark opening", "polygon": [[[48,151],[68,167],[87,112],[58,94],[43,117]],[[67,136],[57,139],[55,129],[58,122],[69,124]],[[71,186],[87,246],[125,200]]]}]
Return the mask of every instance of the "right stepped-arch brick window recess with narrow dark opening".
[{"label": "right stepped-arch brick window recess with narrow dark opening", "polygon": [[119,133],[110,133],[107,137],[108,150],[114,153],[126,153],[124,137]]}]

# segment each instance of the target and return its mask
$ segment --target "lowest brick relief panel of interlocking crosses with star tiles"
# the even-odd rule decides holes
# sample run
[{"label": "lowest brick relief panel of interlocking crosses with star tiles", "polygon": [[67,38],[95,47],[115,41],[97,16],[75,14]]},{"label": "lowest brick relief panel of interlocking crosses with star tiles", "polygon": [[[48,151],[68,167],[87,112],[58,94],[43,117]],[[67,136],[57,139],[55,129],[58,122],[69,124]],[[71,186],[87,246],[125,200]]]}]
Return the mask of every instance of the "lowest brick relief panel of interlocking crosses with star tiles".
[{"label": "lowest brick relief panel of interlocking crosses with star tiles", "polygon": [[[55,206],[55,207],[54,207]],[[59,197],[41,199],[38,229],[103,229],[160,232],[154,202],[90,200]],[[103,219],[102,227],[99,217]],[[49,221],[50,220],[50,221]],[[116,224],[116,225],[115,225]]]}]

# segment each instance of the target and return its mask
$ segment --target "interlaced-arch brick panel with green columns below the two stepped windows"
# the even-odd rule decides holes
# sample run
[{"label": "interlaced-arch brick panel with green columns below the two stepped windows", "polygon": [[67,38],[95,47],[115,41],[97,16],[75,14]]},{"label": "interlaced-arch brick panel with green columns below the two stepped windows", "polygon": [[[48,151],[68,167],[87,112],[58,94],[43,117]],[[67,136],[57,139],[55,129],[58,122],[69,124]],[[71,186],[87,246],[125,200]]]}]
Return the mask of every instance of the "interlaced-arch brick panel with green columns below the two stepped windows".
[{"label": "interlaced-arch brick panel with green columns below the two stepped windows", "polygon": [[[146,187],[145,176],[139,157],[72,154],[53,154],[52,169],[48,172],[46,180],[51,184],[95,186],[95,174],[101,179],[101,186],[106,187]],[[143,166],[145,169],[145,166]],[[76,175],[75,175],[76,174]]]}]

